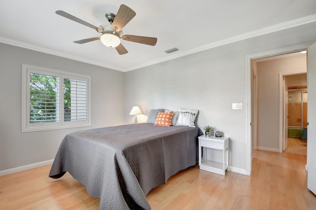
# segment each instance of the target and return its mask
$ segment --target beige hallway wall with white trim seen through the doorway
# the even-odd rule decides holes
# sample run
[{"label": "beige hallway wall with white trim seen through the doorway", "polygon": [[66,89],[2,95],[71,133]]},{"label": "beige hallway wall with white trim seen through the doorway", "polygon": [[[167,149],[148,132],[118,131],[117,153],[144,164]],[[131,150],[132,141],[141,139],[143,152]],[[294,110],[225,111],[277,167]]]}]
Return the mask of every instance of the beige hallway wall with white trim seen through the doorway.
[{"label": "beige hallway wall with white trim seen through the doorway", "polygon": [[[251,70],[253,149],[283,152],[288,134],[287,105],[283,104],[283,97],[288,94],[288,86],[295,90],[307,85],[306,54],[299,51],[253,59]],[[305,80],[302,80],[304,73]]]}]

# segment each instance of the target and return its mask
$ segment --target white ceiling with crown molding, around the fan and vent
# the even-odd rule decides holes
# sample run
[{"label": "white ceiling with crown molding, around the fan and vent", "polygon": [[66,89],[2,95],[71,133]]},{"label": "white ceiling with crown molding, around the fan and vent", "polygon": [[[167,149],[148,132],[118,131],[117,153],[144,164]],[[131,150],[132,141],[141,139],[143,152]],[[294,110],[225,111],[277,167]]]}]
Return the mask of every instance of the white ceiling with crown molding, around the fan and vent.
[{"label": "white ceiling with crown molding, around the fan and vent", "polygon": [[[55,14],[63,10],[92,25],[120,4],[136,12],[123,35],[158,38],[156,46],[122,40],[118,55],[91,28]],[[201,50],[316,22],[316,0],[0,0],[0,42],[120,71],[134,70]],[[166,54],[177,47],[180,50]]]}]

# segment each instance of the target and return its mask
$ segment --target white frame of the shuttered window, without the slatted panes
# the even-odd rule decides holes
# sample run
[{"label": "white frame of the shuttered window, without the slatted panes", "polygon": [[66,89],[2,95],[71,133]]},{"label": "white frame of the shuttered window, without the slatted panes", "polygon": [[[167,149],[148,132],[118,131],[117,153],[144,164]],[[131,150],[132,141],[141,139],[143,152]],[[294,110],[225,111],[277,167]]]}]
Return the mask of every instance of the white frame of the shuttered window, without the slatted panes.
[{"label": "white frame of the shuttered window, without the slatted panes", "polygon": [[[30,123],[30,73],[59,77],[59,122]],[[87,82],[87,119],[64,121],[64,78]],[[22,132],[91,126],[91,76],[62,70],[22,65]]]}]

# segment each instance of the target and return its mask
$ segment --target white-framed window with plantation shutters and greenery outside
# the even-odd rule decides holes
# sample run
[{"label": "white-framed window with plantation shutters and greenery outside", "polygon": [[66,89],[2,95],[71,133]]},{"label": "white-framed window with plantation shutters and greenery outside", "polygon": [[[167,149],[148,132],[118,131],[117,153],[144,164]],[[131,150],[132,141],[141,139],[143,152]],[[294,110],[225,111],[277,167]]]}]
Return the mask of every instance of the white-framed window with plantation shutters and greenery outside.
[{"label": "white-framed window with plantation shutters and greenery outside", "polygon": [[91,77],[22,66],[22,132],[91,126]]}]

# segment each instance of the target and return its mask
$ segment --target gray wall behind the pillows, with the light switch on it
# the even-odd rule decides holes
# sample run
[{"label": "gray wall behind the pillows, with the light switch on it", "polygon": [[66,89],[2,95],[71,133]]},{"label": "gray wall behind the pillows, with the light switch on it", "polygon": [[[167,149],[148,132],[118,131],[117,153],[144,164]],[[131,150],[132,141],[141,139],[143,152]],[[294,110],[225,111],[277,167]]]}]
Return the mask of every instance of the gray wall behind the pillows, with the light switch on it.
[{"label": "gray wall behind the pillows, with the light switch on it", "polygon": [[[151,108],[199,109],[197,126],[209,124],[230,137],[230,165],[234,171],[246,170],[246,84],[251,78],[246,56],[315,42],[307,28],[311,29],[291,28],[126,72],[125,116],[133,105],[145,115]],[[301,34],[294,37],[292,30]],[[242,103],[242,110],[232,110],[232,103]]]}]

